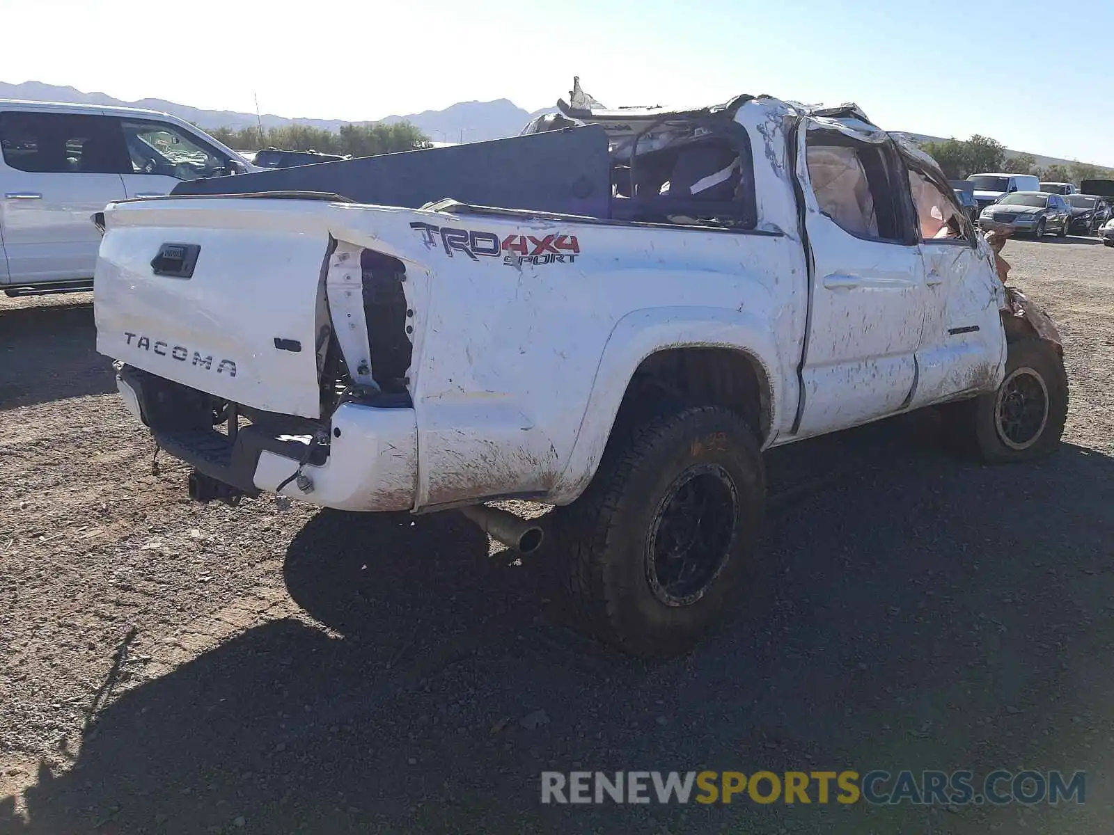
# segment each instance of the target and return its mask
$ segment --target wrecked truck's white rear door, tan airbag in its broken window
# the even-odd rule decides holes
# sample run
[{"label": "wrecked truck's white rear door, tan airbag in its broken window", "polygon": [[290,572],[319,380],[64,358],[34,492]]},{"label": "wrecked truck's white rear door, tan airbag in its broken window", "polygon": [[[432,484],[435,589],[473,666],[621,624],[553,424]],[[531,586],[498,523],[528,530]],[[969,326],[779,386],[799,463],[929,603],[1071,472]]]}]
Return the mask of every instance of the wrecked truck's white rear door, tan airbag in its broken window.
[{"label": "wrecked truck's white rear door, tan airbag in its broken window", "polygon": [[798,426],[808,435],[902,407],[917,374],[926,287],[890,140],[810,120],[801,130],[798,175],[814,257]]}]

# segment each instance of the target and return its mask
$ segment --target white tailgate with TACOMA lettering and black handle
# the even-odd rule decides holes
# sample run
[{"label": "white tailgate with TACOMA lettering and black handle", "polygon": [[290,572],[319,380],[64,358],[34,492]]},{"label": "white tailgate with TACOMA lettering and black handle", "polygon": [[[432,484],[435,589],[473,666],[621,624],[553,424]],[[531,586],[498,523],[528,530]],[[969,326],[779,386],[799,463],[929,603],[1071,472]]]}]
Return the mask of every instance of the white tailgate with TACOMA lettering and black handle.
[{"label": "white tailgate with TACOMA lettering and black handle", "polygon": [[329,232],[315,208],[110,206],[94,279],[97,351],[236,403],[317,418]]}]

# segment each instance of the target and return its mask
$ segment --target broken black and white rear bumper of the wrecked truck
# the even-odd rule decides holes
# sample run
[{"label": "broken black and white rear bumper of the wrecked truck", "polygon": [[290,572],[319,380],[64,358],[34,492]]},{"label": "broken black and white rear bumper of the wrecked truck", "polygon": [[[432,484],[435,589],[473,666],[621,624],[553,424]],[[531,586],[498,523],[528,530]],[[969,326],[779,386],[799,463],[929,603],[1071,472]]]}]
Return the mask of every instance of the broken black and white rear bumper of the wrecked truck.
[{"label": "broken black and white rear bumper of the wrecked truck", "polygon": [[212,426],[198,425],[201,422],[183,425],[160,421],[153,380],[159,379],[125,366],[117,375],[117,386],[128,411],[152,430],[159,446],[198,472],[255,497],[276,492],[306,459],[301,465],[306,478],[290,480],[277,492],[338,510],[413,508],[418,428],[412,409],[342,403],[325,428],[328,446],[307,455],[305,441],[276,436],[255,425],[241,428],[233,440]]}]

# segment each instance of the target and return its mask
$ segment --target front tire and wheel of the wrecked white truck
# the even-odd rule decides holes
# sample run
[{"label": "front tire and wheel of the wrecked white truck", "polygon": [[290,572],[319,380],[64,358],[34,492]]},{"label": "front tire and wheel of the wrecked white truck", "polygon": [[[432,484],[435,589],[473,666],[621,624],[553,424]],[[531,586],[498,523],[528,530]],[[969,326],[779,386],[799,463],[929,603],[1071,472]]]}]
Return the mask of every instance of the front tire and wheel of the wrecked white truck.
[{"label": "front tire and wheel of the wrecked white truck", "polygon": [[996,391],[946,412],[946,431],[960,452],[988,464],[1033,461],[1059,445],[1067,399],[1063,357],[1051,342],[1027,336],[1009,343]]}]

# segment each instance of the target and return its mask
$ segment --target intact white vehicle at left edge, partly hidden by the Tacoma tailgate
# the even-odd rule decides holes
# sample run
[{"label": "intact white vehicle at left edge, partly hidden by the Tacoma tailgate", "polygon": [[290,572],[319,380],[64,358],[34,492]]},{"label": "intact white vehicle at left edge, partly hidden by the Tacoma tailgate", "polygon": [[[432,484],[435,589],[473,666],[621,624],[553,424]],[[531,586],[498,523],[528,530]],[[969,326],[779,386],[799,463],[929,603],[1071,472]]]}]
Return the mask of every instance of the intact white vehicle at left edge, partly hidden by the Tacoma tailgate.
[{"label": "intact white vehicle at left edge, partly hidden by the Tacoma tailgate", "polygon": [[111,200],[253,170],[236,151],[155,110],[0,99],[0,287],[9,296],[92,288]]}]

